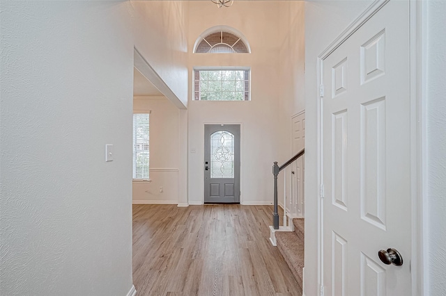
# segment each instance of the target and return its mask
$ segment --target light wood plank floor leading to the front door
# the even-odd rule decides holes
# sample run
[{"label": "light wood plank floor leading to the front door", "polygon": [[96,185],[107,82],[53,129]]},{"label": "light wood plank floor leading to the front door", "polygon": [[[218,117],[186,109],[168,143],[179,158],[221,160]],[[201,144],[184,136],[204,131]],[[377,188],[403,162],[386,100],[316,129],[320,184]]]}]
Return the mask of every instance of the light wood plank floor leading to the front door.
[{"label": "light wood plank floor leading to the front door", "polygon": [[137,295],[295,295],[269,241],[272,206],[133,206]]}]

